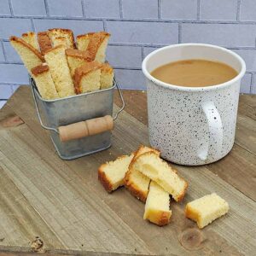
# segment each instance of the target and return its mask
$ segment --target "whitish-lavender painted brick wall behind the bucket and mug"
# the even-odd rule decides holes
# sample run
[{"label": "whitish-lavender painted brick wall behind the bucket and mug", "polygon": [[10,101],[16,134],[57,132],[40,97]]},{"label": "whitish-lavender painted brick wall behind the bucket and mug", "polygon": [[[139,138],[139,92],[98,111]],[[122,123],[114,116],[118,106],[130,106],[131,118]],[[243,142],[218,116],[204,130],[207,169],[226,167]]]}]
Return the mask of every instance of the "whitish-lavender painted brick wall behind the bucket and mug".
[{"label": "whitish-lavender painted brick wall behind the bucket and mug", "polygon": [[[255,0],[1,0],[0,100],[27,84],[9,35],[67,27],[112,34],[108,61],[125,89],[144,89],[143,57],[166,44],[208,43],[233,49],[247,62],[241,92],[256,93]],[[2,102],[3,104],[3,102]]]}]

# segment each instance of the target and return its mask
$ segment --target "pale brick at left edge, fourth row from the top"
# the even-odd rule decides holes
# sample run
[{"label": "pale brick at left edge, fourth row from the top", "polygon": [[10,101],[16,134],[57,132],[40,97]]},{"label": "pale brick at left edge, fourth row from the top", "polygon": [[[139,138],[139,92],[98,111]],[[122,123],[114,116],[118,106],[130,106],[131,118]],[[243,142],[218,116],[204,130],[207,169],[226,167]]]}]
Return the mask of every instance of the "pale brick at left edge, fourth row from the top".
[{"label": "pale brick at left edge, fourth row from the top", "polygon": [[0,64],[0,84],[28,84],[26,67],[20,64]]}]

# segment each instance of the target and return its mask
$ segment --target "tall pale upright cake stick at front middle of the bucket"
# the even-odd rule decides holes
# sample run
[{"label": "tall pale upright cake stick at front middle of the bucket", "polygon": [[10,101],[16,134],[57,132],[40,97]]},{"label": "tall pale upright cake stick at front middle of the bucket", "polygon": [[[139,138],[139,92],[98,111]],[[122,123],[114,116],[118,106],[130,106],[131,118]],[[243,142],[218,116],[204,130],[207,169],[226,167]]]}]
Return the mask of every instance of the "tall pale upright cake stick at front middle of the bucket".
[{"label": "tall pale upright cake stick at front middle of the bucket", "polygon": [[49,66],[49,71],[59,96],[75,95],[73,79],[67,65],[65,47],[59,45],[53,49],[49,49],[45,53],[44,58]]}]

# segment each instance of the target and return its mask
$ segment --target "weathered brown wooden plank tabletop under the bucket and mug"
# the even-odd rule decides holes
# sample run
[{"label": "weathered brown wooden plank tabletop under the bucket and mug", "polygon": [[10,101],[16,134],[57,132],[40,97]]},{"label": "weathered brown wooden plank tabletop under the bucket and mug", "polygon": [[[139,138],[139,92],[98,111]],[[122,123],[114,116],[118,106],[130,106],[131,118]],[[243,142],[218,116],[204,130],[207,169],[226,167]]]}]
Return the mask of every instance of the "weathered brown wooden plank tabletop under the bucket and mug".
[{"label": "weathered brown wooden plank tabletop under the bucket and mug", "polygon": [[[146,95],[124,94],[113,146],[71,161],[57,156],[38,124],[30,88],[21,86],[3,107],[0,252],[255,255],[256,96],[241,96],[230,154],[208,166],[176,166],[189,190],[182,203],[172,201],[172,222],[160,228],[143,220],[143,203],[128,191],[109,195],[97,180],[102,162],[148,144]],[[230,212],[198,230],[184,217],[184,206],[213,191],[229,202]]]}]

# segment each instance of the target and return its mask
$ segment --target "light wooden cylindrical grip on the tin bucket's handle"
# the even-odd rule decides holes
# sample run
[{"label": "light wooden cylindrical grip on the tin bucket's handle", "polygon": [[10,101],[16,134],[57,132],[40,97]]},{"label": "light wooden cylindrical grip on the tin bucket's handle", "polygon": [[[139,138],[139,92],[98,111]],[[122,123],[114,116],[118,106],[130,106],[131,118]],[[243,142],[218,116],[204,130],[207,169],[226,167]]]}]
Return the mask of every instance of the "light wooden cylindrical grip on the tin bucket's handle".
[{"label": "light wooden cylindrical grip on the tin bucket's handle", "polygon": [[111,130],[113,130],[113,118],[110,115],[59,127],[61,142],[67,142]]}]

